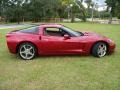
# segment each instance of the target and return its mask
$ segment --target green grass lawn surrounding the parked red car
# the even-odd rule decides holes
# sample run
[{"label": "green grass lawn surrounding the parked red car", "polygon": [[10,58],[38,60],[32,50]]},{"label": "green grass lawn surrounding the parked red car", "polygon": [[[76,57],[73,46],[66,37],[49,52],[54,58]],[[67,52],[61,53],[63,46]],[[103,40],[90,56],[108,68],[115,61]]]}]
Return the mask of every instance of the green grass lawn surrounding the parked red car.
[{"label": "green grass lawn surrounding the parked red car", "polygon": [[38,57],[23,61],[10,54],[0,30],[0,90],[120,90],[120,25],[62,23],[113,39],[116,52],[92,56]]}]

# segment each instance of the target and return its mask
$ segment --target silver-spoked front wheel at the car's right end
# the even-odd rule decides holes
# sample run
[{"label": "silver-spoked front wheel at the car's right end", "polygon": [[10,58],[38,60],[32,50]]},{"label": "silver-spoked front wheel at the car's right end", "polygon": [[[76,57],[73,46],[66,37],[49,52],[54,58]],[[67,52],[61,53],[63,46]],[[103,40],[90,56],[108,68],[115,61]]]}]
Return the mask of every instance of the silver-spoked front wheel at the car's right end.
[{"label": "silver-spoked front wheel at the car's right end", "polygon": [[95,44],[92,48],[92,55],[95,57],[104,57],[107,54],[107,45],[104,42]]}]

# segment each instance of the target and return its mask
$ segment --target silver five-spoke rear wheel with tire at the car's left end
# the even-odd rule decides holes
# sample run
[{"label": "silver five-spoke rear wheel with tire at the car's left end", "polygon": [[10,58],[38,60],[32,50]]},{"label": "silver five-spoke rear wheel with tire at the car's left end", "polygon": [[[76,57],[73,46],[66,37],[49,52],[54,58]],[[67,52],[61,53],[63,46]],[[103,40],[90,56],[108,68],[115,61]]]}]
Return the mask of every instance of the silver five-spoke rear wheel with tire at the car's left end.
[{"label": "silver five-spoke rear wheel with tire at the car's left end", "polygon": [[31,43],[22,43],[19,46],[18,54],[24,60],[31,60],[36,56],[36,47]]}]

